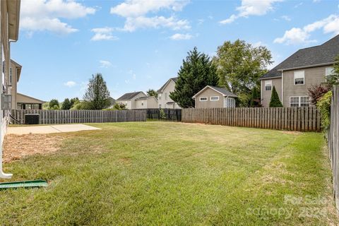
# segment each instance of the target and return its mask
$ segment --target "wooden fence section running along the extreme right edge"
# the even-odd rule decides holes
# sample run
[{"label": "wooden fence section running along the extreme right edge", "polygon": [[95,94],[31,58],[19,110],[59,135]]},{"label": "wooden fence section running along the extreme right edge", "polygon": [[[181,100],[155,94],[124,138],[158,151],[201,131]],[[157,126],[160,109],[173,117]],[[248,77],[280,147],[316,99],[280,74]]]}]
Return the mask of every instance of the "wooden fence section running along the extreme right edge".
[{"label": "wooden fence section running along the extreme right edge", "polygon": [[335,206],[339,210],[339,85],[333,86],[331,101],[331,125],[328,131],[328,149],[333,171]]}]

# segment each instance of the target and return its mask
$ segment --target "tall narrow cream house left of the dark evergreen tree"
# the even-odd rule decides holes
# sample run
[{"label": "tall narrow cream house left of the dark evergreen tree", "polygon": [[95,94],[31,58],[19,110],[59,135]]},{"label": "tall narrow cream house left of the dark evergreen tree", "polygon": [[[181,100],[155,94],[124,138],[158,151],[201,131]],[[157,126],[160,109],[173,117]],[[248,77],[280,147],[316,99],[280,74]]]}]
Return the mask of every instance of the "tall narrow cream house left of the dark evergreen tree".
[{"label": "tall narrow cream house left of the dark evergreen tree", "polygon": [[157,104],[159,108],[181,108],[169,97],[169,93],[174,91],[177,80],[177,77],[169,78],[169,80],[157,90]]}]

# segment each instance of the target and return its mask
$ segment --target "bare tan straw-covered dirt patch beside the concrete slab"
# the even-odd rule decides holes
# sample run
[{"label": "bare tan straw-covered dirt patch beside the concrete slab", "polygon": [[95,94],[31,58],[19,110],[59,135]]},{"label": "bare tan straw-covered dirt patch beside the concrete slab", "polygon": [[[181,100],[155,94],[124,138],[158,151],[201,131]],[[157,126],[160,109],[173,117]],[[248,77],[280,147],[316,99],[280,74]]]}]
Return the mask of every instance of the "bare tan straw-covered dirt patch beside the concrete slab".
[{"label": "bare tan straw-covered dirt patch beside the concrete slab", "polygon": [[4,141],[4,162],[19,160],[26,155],[54,153],[60,149],[63,139],[49,134],[8,134]]}]

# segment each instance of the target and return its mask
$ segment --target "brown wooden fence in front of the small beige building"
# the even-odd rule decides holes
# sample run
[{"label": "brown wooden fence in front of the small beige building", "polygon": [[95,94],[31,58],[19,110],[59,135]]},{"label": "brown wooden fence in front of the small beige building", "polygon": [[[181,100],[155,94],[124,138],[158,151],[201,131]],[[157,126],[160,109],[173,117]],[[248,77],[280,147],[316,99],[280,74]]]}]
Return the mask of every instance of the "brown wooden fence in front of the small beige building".
[{"label": "brown wooden fence in front of the small beige building", "polygon": [[320,131],[316,107],[232,107],[182,109],[182,121],[288,131]]}]

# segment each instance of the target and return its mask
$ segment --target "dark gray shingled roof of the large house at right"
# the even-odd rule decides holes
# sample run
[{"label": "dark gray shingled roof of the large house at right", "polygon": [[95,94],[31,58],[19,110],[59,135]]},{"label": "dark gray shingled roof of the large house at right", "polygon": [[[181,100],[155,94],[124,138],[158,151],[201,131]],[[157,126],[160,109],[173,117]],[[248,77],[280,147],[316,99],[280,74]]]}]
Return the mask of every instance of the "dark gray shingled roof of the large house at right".
[{"label": "dark gray shingled roof of the large house at right", "polygon": [[299,49],[297,52],[285,59],[285,61],[268,71],[268,73],[263,75],[261,79],[281,77],[281,72],[278,71],[281,69],[294,69],[319,64],[331,64],[335,61],[335,57],[337,57],[338,54],[339,35],[321,45]]}]

